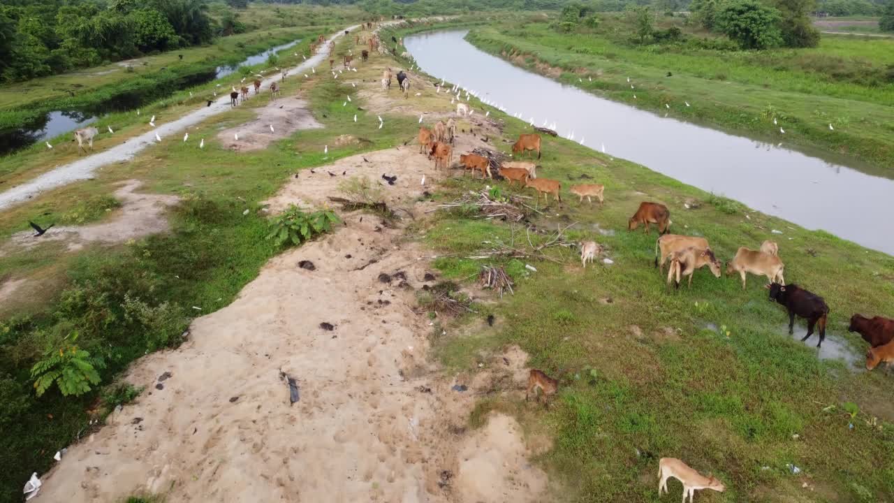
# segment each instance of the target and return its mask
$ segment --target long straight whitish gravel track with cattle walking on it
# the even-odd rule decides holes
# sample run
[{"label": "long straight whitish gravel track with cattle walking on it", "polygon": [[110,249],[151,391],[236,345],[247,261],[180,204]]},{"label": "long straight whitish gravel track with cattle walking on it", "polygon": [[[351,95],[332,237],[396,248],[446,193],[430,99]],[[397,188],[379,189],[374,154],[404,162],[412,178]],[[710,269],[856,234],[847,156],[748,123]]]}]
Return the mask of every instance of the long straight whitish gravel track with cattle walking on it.
[{"label": "long straight whitish gravel track with cattle walking on it", "polygon": [[[345,30],[354,30],[357,27],[358,25],[350,26]],[[329,38],[329,41],[342,37],[343,34],[344,30],[339,30]],[[316,55],[311,56],[307,61],[290,70],[293,78],[294,75],[299,74],[299,72],[305,72],[312,66],[316,66],[316,64],[320,64],[325,60],[329,55],[328,43],[324,44],[322,47],[323,48]],[[276,73],[266,77],[262,85],[266,87],[270,82],[279,81],[281,75],[282,73]],[[162,141],[164,141],[192,125],[198,124],[214,115],[222,114],[231,108],[229,93],[223,93],[211,107],[201,107],[187,115],[183,115],[175,121],[161,124],[151,131],[144,132],[139,136],[124,141],[122,144],[112,147],[111,149],[92,154],[67,165],[56,167],[52,171],[39,175],[30,182],[22,183],[8,191],[0,193],[0,209],[9,208],[16,202],[27,200],[28,198],[37,195],[38,192],[55,189],[56,187],[61,187],[77,180],[89,179],[93,176],[93,172],[97,167],[129,160],[140,150],[145,149],[148,145],[156,143],[156,133],[162,138]]]}]

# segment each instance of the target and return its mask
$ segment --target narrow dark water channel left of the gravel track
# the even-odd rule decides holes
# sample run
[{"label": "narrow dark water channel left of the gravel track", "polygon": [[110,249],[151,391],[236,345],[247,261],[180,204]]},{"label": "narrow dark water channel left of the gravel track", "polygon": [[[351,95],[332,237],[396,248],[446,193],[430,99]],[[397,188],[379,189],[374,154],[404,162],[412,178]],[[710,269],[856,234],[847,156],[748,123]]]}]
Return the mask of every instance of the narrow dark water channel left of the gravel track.
[{"label": "narrow dark water channel left of the gravel track", "polygon": [[0,155],[9,154],[17,149],[28,147],[37,141],[46,141],[65,132],[74,131],[87,124],[97,121],[97,117],[114,112],[124,112],[140,107],[150,101],[154,101],[165,96],[170,96],[173,92],[181,90],[184,87],[196,86],[208,81],[214,81],[231,75],[236,72],[240,66],[264,63],[272,54],[276,54],[283,49],[293,47],[299,44],[301,40],[293,40],[287,44],[275,46],[267,49],[257,55],[251,55],[238,64],[223,65],[215,68],[213,72],[201,72],[194,75],[184,76],[178,81],[173,81],[171,85],[164,86],[164,89],[156,89],[153,93],[139,94],[124,93],[114,98],[108,99],[95,107],[89,107],[81,110],[54,110],[40,117],[37,121],[28,124],[28,127],[0,132]]}]

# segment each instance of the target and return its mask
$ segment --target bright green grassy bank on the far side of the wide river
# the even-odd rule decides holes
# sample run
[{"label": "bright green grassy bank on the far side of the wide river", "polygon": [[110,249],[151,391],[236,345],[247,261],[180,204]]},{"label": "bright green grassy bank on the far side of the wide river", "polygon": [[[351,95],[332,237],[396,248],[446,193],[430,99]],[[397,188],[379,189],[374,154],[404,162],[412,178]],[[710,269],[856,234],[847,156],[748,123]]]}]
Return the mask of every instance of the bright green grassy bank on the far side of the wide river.
[{"label": "bright green grassy bank on the far side of the wide river", "polygon": [[[670,104],[671,115],[847,154],[868,163],[864,171],[894,176],[894,39],[826,36],[812,49],[737,51],[694,34],[644,47],[632,44],[632,28],[611,14],[595,30],[569,34],[543,20],[473,30],[468,40],[532,71],[559,69],[557,80],[606,98],[662,111]],[[579,82],[582,75],[593,81]]]}]

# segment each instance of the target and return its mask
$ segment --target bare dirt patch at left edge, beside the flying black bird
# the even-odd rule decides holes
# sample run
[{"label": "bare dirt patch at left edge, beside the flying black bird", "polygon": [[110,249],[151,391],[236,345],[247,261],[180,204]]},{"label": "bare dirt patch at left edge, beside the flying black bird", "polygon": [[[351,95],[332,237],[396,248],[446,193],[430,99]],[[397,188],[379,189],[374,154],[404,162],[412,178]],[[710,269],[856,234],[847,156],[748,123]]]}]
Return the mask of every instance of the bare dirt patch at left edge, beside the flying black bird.
[{"label": "bare dirt patch at left edge, beside the flying black bird", "polygon": [[27,250],[50,241],[63,241],[68,251],[74,252],[89,243],[124,243],[129,239],[167,231],[168,222],[164,213],[177,204],[180,198],[135,192],[141,184],[139,180],[128,180],[114,192],[114,197],[122,201],[122,207],[116,210],[116,215],[108,222],[89,226],[54,226],[46,234],[37,237],[32,231],[13,234],[10,243],[0,254],[21,248]]}]

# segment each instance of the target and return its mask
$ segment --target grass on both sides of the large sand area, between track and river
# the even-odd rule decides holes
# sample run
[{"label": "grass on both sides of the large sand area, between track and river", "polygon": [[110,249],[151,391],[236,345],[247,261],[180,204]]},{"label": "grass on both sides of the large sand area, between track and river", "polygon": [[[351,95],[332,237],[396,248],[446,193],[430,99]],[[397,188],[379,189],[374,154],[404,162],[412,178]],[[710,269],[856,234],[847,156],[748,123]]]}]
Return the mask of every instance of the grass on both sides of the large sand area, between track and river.
[{"label": "grass on both sides of the large sand area, between track and river", "polygon": [[[378,74],[361,70],[358,78],[368,81]],[[207,141],[203,150],[194,143],[163,142],[129,163],[106,166],[96,180],[41,194],[0,215],[4,240],[21,230],[26,218],[47,211],[54,217],[77,213],[95,218],[97,212],[82,201],[109,194],[114,183],[131,178],[146,181],[143,191],[183,200],[170,214],[173,228],[168,234],[77,253],[44,246],[0,258],[0,277],[46,279],[39,298],[19,299],[12,311],[7,304],[0,326],[0,402],[6,405],[0,411],[0,465],[10,467],[0,475],[0,501],[21,499],[21,482],[32,471],[42,473],[55,450],[84,431],[86,411],[99,396],[66,399],[48,393],[37,399],[28,371],[46,347],[62,344],[64,336],[79,329],[79,345],[105,357],[106,383],[139,355],[176,345],[182,328],[196,316],[190,306],[200,305],[207,314],[231,303],[278,252],[264,239],[266,218],[259,201],[300,169],[362,150],[399,146],[417,131],[417,116],[398,114],[383,115],[389,127],[378,130],[375,115],[356,108],[367,107],[361,99],[355,99],[354,109],[342,105],[350,90],[343,81],[295,79],[285,93],[296,90],[309,99],[325,129],[297,132],[267,149],[239,154],[216,141]],[[247,106],[201,124],[190,136],[214,138],[218,129],[253,117],[250,107],[265,103],[249,100]],[[194,106],[156,104],[147,110],[173,115]],[[505,123],[505,138],[524,131],[525,124],[493,108],[477,107]],[[352,119],[355,113],[358,123]],[[134,122],[131,127],[144,126]],[[333,137],[347,133],[372,143],[333,148]],[[500,140],[494,138],[493,145],[509,149]],[[328,154],[324,145],[330,146]],[[38,158],[37,151],[28,155],[34,156],[28,162],[38,170],[63,161]],[[574,142],[546,138],[541,164],[538,174],[563,184],[565,203],[553,203],[550,217],[533,216],[537,226],[576,222],[569,240],[603,243],[614,264],[597,262],[585,271],[574,252],[564,249],[552,252],[558,263],[493,260],[514,275],[516,294],[482,310],[495,314],[493,328],[478,329],[481,320],[468,317],[451,326],[451,334],[460,335],[433,335],[446,370],[475,371],[504,345],[518,344],[530,354],[529,365],[563,381],[548,410],[498,389],[483,397],[470,425],[480,424],[490,410],[501,410],[517,415],[527,432],[549,435],[552,449],[536,463],[550,473],[556,500],[657,501],[655,465],[661,456],[711,469],[730,488],[723,494],[699,493],[699,501],[890,499],[891,379],[881,371],[852,371],[839,361],[818,360],[812,345],[785,333],[785,313],[767,302],[761,278],[749,277],[743,291],[738,277],[716,279],[702,270],[691,289],[668,290],[652,266],[656,235],[628,233],[626,222],[640,200],[662,200],[671,208],[673,228],[708,237],[721,259],[730,258],[740,245],[756,247],[771,237],[757,226],[787,229],[777,237],[786,278],[825,297],[831,306],[825,344],[858,348],[857,366],[864,343],[847,333],[847,320],[854,311],[894,314],[894,259],[713,198]],[[578,204],[569,194],[569,183],[585,174],[605,184],[603,208]],[[434,198],[453,200],[483,184],[451,180]],[[496,184],[515,192],[505,183]],[[685,198],[704,205],[684,209]],[[249,214],[243,216],[245,209]],[[482,220],[474,212],[436,215],[421,238],[443,256],[434,267],[480,296],[468,277],[477,273],[481,261],[462,257],[480,250],[484,241],[509,239],[510,226]],[[525,263],[537,271],[527,271]],[[107,398],[106,404],[114,405],[122,396]],[[854,407],[854,417],[844,412]],[[792,474],[789,464],[803,472]]]}]

